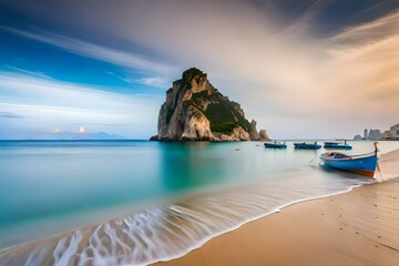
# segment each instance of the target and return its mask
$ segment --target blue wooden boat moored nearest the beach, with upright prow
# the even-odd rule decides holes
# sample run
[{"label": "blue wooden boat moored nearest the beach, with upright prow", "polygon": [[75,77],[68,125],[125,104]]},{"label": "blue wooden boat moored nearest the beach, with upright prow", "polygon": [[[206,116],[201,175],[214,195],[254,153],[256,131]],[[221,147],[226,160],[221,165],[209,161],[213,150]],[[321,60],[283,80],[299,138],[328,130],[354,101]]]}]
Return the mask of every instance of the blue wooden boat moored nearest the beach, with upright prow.
[{"label": "blue wooden boat moored nearest the beach, with upright prow", "polygon": [[375,151],[371,153],[347,155],[340,152],[329,152],[321,154],[320,160],[329,167],[372,177],[377,167],[377,142],[375,142]]}]

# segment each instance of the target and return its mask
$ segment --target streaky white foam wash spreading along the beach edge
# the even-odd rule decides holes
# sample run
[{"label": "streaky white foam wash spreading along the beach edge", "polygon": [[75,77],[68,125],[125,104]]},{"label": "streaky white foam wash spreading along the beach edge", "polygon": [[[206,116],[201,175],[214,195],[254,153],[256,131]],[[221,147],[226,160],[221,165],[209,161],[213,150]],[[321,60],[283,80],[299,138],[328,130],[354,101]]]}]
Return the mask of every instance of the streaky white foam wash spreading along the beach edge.
[{"label": "streaky white foam wash spreading along the beach edge", "polygon": [[[296,176],[203,195],[0,252],[0,265],[146,265],[171,260],[215,236],[289,205],[345,193],[369,178]],[[49,259],[52,258],[52,259]]]}]

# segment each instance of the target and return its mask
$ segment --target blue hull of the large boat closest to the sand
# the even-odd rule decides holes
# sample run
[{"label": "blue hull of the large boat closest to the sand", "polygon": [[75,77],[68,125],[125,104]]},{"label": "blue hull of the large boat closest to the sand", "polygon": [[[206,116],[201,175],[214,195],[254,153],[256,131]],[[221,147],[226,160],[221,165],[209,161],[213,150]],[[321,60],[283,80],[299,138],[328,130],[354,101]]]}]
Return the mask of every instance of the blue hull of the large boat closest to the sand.
[{"label": "blue hull of the large boat closest to the sand", "polygon": [[329,158],[326,157],[326,154],[321,154],[320,160],[329,167],[371,177],[375,175],[377,167],[377,155],[354,158],[350,156]]}]

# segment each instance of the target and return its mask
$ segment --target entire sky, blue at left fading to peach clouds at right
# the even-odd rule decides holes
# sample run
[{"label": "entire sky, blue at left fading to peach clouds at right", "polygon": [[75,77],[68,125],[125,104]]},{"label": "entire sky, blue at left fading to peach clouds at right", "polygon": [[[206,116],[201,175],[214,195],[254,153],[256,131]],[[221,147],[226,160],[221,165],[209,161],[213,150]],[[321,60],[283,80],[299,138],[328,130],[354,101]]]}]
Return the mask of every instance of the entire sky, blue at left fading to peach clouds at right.
[{"label": "entire sky, blue at left fading to peach clouds at right", "polygon": [[399,1],[0,0],[0,139],[149,139],[191,66],[272,139],[387,130]]}]

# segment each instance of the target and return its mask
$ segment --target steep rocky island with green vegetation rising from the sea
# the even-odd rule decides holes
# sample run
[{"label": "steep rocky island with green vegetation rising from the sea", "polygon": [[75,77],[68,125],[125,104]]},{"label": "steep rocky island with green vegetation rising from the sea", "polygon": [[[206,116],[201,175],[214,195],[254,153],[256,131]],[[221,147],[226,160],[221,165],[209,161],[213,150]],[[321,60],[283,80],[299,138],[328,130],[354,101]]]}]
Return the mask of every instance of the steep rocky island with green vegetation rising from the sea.
[{"label": "steep rocky island with green vegetation rising from the sea", "polygon": [[183,72],[166,91],[152,141],[266,141],[266,131],[256,130],[241,105],[228,100],[196,68]]}]

